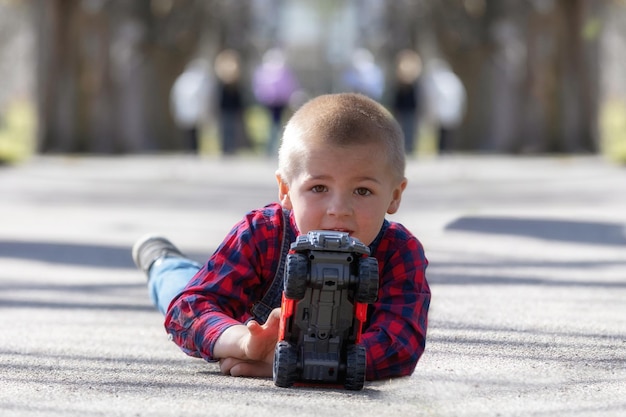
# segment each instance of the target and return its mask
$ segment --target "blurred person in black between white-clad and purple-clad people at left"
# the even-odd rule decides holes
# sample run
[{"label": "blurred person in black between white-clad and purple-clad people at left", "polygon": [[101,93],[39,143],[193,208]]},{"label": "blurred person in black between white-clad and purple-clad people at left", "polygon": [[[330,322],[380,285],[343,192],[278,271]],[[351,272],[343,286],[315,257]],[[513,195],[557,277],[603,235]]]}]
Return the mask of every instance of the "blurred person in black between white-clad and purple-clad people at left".
[{"label": "blurred person in black between white-clad and purple-clad people at left", "polygon": [[215,58],[218,80],[219,131],[222,153],[232,155],[238,149],[249,148],[250,139],[244,122],[244,102],[241,91],[241,59],[239,53],[225,49]]}]

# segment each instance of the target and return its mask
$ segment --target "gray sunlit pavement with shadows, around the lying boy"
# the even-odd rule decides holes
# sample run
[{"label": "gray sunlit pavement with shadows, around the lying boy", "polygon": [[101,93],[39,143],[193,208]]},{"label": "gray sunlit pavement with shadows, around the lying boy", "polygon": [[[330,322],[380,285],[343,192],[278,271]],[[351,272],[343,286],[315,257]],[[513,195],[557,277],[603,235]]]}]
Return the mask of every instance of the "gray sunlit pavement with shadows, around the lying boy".
[{"label": "gray sunlit pavement with shadows, around the lying boy", "polygon": [[130,258],[203,260],[273,201],[275,161],[40,157],[0,167],[0,415],[626,415],[626,168],[410,161],[400,213],[433,291],[426,353],[363,391],[220,375],[167,340]]}]

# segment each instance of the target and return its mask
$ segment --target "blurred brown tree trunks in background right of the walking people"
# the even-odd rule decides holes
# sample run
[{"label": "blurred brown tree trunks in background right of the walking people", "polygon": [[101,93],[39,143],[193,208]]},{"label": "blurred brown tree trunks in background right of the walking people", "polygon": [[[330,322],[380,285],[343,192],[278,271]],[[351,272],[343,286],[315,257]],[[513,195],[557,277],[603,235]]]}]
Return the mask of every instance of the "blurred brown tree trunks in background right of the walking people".
[{"label": "blurred brown tree trunks in background right of the walking people", "polygon": [[603,2],[486,0],[476,10],[467,4],[432,6],[440,50],[468,92],[457,149],[596,152],[593,27]]}]

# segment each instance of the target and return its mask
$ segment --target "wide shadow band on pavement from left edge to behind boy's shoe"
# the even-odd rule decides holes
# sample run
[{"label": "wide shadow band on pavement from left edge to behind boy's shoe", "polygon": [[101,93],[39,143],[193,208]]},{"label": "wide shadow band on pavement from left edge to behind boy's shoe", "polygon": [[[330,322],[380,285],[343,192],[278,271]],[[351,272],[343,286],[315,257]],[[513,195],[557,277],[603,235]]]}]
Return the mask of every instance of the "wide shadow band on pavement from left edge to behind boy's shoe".
[{"label": "wide shadow band on pavement from left edge to behind boy's shoe", "polygon": [[[187,255],[194,260],[204,262],[209,252]],[[135,268],[130,246],[0,240],[0,258],[18,258],[95,268]]]}]

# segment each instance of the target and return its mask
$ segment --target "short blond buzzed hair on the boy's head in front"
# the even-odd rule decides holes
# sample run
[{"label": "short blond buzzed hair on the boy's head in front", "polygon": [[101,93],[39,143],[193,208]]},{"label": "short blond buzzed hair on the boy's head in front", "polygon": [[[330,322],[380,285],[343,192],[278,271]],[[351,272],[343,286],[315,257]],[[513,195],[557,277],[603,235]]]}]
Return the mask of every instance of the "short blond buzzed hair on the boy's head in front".
[{"label": "short blond buzzed hair on the boy's head in front", "polygon": [[404,135],[391,113],[356,93],[325,94],[311,99],[289,119],[278,151],[278,174],[290,182],[312,140],[337,146],[379,143],[393,174],[404,178]]}]

